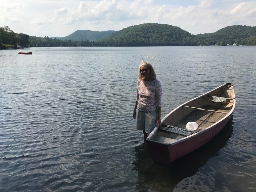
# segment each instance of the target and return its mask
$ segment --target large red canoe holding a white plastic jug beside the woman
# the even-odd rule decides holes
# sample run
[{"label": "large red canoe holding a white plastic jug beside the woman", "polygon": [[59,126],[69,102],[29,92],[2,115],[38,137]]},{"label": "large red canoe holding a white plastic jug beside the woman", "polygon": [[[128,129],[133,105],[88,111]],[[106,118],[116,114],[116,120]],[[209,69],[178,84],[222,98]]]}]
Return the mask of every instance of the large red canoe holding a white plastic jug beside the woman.
[{"label": "large red canoe holding a white plastic jug beside the woman", "polygon": [[146,138],[149,156],[167,164],[198,149],[226,125],[235,104],[233,84],[224,83],[178,106]]}]

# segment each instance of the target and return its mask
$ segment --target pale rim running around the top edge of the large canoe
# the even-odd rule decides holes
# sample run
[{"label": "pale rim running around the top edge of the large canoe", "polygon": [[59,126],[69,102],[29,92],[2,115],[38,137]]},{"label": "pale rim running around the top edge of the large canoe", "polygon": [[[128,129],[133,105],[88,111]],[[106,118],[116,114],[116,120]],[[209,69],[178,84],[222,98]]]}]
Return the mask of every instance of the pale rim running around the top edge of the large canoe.
[{"label": "pale rim running around the top edge of the large canoe", "polygon": [[[170,143],[163,143],[163,142],[160,142],[160,141],[151,140],[151,138],[154,136],[154,134],[158,131],[158,127],[155,127],[155,128],[153,129],[153,131],[150,133],[150,135],[146,138],[146,141],[147,141],[147,142],[150,142],[150,143],[158,143],[158,144],[161,144],[161,145],[164,145],[164,146],[169,147],[169,146],[171,146],[171,145],[175,145],[175,144],[177,144],[177,143],[184,142],[184,141],[186,141],[186,140],[188,140],[188,139],[191,139],[192,137],[196,137],[196,136],[198,136],[198,135],[200,135],[200,134],[203,134],[203,133],[205,133],[206,131],[209,131],[209,130],[212,129],[212,128],[214,129],[214,127],[218,126],[221,122],[223,122],[223,121],[226,120],[227,118],[230,119],[230,118],[232,117],[232,114],[233,114],[233,111],[234,111],[234,108],[235,108],[236,100],[235,100],[235,95],[234,95],[233,84],[232,84],[232,83],[224,83],[223,85],[221,85],[221,86],[219,86],[219,87],[217,87],[217,88],[215,88],[215,89],[213,89],[213,90],[211,90],[211,91],[209,91],[209,92],[207,92],[207,93],[204,93],[204,94],[202,94],[202,95],[200,95],[200,96],[198,96],[198,97],[195,97],[194,99],[191,99],[191,100],[189,100],[189,101],[187,101],[187,102],[181,104],[180,106],[178,106],[177,108],[175,108],[174,110],[172,110],[170,113],[168,113],[168,114],[161,120],[161,125],[163,124],[164,120],[165,120],[169,115],[171,115],[173,112],[175,112],[177,109],[179,109],[179,108],[185,106],[187,103],[189,103],[189,102],[191,102],[191,101],[193,101],[193,100],[196,100],[196,99],[198,99],[198,98],[200,98],[200,97],[204,97],[205,95],[208,95],[209,93],[213,92],[214,90],[217,90],[217,89],[219,89],[219,88],[221,88],[221,87],[223,87],[223,86],[225,86],[225,85],[227,85],[227,84],[230,84],[230,86],[232,87],[233,106],[232,106],[232,109],[230,110],[230,112],[227,113],[223,118],[221,118],[220,120],[218,120],[217,122],[215,122],[215,123],[212,124],[211,126],[205,128],[205,129],[203,129],[203,130],[201,130],[201,131],[195,132],[194,134],[192,134],[192,135],[190,135],[190,136],[186,136],[186,137],[184,137],[184,138],[181,138],[181,139],[179,139],[179,140],[176,140],[176,141],[173,141],[173,142],[170,142]],[[161,125],[160,125],[160,126],[161,126]]]}]

